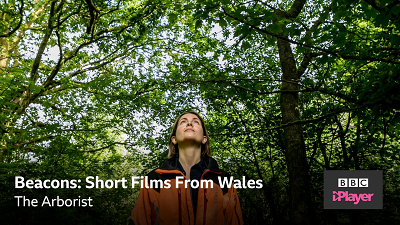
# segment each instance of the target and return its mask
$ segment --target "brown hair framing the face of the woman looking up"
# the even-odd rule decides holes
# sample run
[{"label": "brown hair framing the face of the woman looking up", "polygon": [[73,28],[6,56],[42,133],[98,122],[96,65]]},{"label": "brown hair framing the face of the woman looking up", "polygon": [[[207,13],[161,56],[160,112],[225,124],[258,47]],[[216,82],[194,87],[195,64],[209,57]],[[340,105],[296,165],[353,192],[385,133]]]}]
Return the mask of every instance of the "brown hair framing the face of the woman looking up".
[{"label": "brown hair framing the face of the woman looking up", "polygon": [[207,137],[207,142],[205,144],[203,144],[203,143],[201,144],[201,157],[205,157],[205,156],[211,157],[210,142],[209,142],[209,137],[208,137],[208,132],[207,132],[206,126],[204,125],[204,120],[203,120],[203,118],[201,118],[201,116],[197,112],[189,111],[189,112],[184,112],[184,113],[180,114],[175,120],[171,135],[169,136],[169,152],[168,152],[169,159],[174,156],[179,155],[178,144],[172,143],[172,137],[176,136],[176,129],[178,128],[178,121],[181,119],[181,117],[183,115],[188,114],[188,113],[194,114],[199,118],[199,120],[201,121],[201,127],[203,128],[203,136]]}]

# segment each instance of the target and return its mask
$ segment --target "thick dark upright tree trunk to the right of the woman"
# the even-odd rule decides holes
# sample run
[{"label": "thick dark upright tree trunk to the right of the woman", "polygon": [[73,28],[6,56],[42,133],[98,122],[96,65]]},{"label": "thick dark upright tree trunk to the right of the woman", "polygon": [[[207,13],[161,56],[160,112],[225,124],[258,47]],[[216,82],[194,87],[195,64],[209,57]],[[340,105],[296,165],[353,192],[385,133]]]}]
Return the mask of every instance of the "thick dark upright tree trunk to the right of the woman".
[{"label": "thick dark upright tree trunk to the right of the woman", "polygon": [[[300,120],[297,92],[298,74],[289,42],[278,38],[278,50],[283,81],[280,96],[282,123],[287,124]],[[301,125],[286,126],[284,138],[289,174],[290,224],[310,224],[311,195]]]}]

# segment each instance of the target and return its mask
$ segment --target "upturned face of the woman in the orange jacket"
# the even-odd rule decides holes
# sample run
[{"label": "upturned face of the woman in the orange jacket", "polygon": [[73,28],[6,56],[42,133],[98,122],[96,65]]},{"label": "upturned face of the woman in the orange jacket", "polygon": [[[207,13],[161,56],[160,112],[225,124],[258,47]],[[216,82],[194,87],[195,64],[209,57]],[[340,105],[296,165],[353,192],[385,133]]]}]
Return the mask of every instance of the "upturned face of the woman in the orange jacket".
[{"label": "upturned face of the woman in the orange jacket", "polygon": [[200,119],[192,113],[184,114],[178,120],[176,135],[172,136],[171,139],[172,143],[178,145],[201,145],[207,142],[207,137],[203,135]]}]

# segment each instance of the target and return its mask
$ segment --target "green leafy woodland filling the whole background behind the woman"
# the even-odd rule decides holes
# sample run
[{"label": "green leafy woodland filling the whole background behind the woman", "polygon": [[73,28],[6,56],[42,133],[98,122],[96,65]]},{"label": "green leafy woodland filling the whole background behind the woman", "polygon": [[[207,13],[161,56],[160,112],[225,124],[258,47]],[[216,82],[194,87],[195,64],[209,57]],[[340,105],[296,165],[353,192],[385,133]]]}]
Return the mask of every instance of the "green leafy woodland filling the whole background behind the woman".
[{"label": "green leafy woodland filling the whole background behind the woman", "polygon": [[[0,0],[0,15],[5,221],[126,224],[139,189],[14,177],[144,175],[189,110],[224,170],[263,181],[238,190],[245,224],[400,221],[398,0]],[[324,210],[324,170],[383,170],[383,209]],[[17,208],[17,194],[98,204]]]}]

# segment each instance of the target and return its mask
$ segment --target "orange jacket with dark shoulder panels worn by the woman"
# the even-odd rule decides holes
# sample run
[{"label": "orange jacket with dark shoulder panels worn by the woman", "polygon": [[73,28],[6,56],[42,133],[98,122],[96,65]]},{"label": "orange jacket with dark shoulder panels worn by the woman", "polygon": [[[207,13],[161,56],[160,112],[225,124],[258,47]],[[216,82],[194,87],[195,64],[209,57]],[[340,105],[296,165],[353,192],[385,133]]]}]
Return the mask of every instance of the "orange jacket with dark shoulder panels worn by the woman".
[{"label": "orange jacket with dark shoulder panels worn by the woman", "polygon": [[[190,197],[189,186],[185,188],[186,178],[178,169],[178,158],[171,158],[163,165],[151,171],[148,175],[148,182],[167,181],[170,188],[148,187],[142,188],[139,197],[133,208],[130,224],[135,225],[241,225],[243,224],[242,211],[236,189],[221,188],[218,177],[230,178],[230,176],[218,168],[217,162],[213,158],[203,159],[206,170],[201,176],[202,181],[208,182],[208,188],[204,182],[203,187],[198,189],[198,199],[196,214],[193,213],[192,200]],[[176,186],[177,177],[184,178],[179,181],[183,184]],[[153,183],[154,184],[154,183]],[[190,185],[190,184],[188,184]],[[150,186],[150,185],[148,185]]]}]

